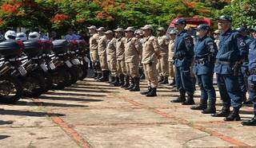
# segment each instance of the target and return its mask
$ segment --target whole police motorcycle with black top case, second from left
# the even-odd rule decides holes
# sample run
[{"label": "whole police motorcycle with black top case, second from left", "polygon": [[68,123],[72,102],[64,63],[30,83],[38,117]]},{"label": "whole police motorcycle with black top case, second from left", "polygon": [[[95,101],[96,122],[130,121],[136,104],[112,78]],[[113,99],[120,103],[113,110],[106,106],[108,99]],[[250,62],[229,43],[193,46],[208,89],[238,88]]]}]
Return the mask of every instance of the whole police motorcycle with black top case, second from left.
[{"label": "whole police motorcycle with black top case, second from left", "polygon": [[[26,38],[25,33],[22,35]],[[26,75],[19,78],[22,82],[23,95],[38,97],[52,85],[51,78],[47,75],[45,61],[42,59],[42,41],[34,39],[33,36],[29,37],[29,40],[19,41],[23,41],[22,66],[26,70]]]}]

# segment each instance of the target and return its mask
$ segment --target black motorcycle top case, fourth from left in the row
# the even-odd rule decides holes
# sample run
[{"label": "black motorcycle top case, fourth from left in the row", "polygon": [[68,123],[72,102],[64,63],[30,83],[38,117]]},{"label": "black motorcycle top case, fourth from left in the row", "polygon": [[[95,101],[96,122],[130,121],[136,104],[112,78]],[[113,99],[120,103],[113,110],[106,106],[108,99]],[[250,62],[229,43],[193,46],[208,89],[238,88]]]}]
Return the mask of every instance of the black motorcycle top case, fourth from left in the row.
[{"label": "black motorcycle top case, fourth from left in the row", "polygon": [[53,41],[54,45],[54,53],[60,54],[60,53],[66,53],[69,51],[70,43],[66,40],[55,40]]}]

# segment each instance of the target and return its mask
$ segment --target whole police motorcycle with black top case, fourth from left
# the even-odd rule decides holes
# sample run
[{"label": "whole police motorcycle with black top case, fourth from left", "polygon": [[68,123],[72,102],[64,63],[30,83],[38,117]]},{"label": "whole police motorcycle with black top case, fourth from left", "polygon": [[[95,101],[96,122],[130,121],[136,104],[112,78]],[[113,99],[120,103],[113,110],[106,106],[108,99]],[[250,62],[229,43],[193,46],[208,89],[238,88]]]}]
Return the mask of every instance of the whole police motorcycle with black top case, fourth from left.
[{"label": "whole police motorcycle with black top case, fourth from left", "polygon": [[70,45],[69,41],[55,40],[52,43],[54,45],[54,65],[56,67],[52,75],[53,80],[62,82],[58,83],[55,89],[63,89],[78,81],[79,72],[76,65],[79,63],[77,60],[74,60],[75,58],[70,56],[72,45]]}]

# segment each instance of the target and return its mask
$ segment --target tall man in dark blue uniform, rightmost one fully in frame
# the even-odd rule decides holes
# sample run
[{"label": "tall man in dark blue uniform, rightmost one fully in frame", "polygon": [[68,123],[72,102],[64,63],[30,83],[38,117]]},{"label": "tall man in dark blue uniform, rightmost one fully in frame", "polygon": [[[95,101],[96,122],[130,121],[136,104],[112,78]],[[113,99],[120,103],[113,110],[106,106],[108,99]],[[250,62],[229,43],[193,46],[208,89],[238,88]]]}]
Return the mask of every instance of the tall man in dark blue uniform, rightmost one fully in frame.
[{"label": "tall man in dark blue uniform, rightmost one fully in frame", "polygon": [[[214,67],[223,107],[213,116],[226,117],[225,121],[240,120],[239,110],[242,107],[242,92],[239,88],[238,73],[242,60],[248,55],[248,48],[241,34],[231,30],[231,21],[232,18],[227,15],[218,19],[218,28],[222,29],[222,34],[220,35],[219,51]],[[234,108],[231,113],[230,106]]]}]

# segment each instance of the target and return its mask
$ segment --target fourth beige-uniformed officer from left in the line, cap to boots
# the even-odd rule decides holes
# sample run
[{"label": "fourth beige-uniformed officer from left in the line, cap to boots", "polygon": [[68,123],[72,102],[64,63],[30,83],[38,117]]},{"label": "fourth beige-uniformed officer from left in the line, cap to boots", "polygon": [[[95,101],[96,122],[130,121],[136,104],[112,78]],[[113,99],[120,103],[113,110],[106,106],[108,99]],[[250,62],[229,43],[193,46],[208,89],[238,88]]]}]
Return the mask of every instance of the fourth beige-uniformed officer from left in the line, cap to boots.
[{"label": "fourth beige-uniformed officer from left in the line, cap to boots", "polygon": [[126,37],[124,37],[124,29],[118,28],[115,29],[115,34],[117,37],[117,71],[120,80],[120,85],[123,87],[125,84],[124,78],[127,75],[126,73],[126,63],[125,63],[125,44],[126,44]]}]

